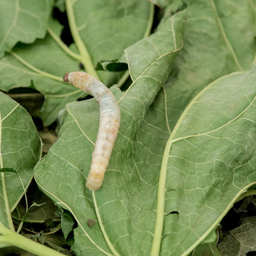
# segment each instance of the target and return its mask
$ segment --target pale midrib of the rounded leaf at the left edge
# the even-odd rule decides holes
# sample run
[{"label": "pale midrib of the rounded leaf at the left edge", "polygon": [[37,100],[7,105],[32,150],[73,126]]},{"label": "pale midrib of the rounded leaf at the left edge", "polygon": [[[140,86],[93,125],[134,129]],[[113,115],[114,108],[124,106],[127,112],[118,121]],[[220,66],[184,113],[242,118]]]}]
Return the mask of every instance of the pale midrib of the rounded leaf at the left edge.
[{"label": "pale midrib of the rounded leaf at the left edge", "polygon": [[[2,117],[1,117],[1,111],[0,111],[0,168],[3,168],[3,158],[2,158]],[[10,212],[10,207],[9,207],[9,201],[8,201],[8,197],[7,197],[7,191],[6,191],[6,184],[5,184],[5,176],[4,176],[4,172],[1,172],[1,178],[2,178],[2,186],[3,186],[3,198],[4,198],[4,202],[5,202],[5,206],[6,206],[6,215],[7,215],[7,219],[8,219],[8,223],[9,223],[9,228],[10,230],[15,231],[15,228],[13,226],[12,223],[12,215]]]}]

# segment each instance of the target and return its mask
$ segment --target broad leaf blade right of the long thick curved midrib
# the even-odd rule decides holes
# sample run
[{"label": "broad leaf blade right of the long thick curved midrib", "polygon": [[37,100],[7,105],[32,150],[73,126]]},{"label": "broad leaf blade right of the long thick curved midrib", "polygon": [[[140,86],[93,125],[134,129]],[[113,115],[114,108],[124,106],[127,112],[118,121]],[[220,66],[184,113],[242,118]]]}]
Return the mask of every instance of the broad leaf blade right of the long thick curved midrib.
[{"label": "broad leaf blade right of the long thick curved midrib", "polygon": [[158,196],[166,194],[165,212],[175,210],[178,216],[164,217],[162,250],[187,255],[256,183],[255,71],[256,66],[209,84],[175,125],[163,155]]}]

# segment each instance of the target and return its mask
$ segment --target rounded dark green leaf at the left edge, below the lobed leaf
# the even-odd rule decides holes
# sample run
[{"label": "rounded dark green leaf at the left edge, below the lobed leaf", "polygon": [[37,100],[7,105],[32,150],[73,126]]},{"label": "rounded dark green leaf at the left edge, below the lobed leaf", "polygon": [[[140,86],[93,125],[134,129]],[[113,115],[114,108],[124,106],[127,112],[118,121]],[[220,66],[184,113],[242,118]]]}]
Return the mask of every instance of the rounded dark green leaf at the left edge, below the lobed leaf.
[{"label": "rounded dark green leaf at the left edge, below the lobed leaf", "polygon": [[0,169],[15,170],[0,173],[0,222],[6,227],[13,228],[10,212],[29,186],[41,148],[31,116],[0,92]]}]

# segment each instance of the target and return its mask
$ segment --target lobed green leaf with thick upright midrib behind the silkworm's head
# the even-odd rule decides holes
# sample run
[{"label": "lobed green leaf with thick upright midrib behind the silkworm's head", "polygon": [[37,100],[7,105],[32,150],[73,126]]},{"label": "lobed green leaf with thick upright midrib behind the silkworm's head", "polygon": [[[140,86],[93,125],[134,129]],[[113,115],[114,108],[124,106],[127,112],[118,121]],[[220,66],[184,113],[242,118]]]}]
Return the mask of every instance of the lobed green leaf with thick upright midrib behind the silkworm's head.
[{"label": "lobed green leaf with thick upright midrib behind the silkworm's head", "polygon": [[126,47],[148,35],[152,24],[153,5],[147,0],[79,0],[74,6],[67,0],[66,4],[75,45],[64,45],[59,37],[61,25],[50,20],[46,38],[32,45],[18,44],[0,60],[0,90],[29,87],[32,81],[45,97],[40,113],[45,125],[51,124],[67,103],[84,96],[80,90],[64,84],[65,73],[81,70],[82,62],[87,72],[99,76],[107,86],[117,83],[127,76],[120,72],[97,74],[94,65],[119,58]]}]

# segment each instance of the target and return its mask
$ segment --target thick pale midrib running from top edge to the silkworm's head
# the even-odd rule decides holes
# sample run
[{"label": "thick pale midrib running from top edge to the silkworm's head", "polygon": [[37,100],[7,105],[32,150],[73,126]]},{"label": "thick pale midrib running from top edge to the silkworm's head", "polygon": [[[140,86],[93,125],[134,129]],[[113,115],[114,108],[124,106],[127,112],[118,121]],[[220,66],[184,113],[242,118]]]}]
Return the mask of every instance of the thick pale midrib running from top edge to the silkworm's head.
[{"label": "thick pale midrib running from top edge to the silkworm's head", "polygon": [[70,31],[73,36],[76,47],[80,52],[81,62],[84,64],[86,72],[90,73],[92,76],[94,76],[96,79],[100,81],[100,78],[96,70],[94,69],[93,62],[91,60],[89,52],[87,51],[84,45],[84,42],[82,41],[79,35],[78,29],[76,26],[76,17],[73,12],[73,4],[71,3],[71,0],[66,0],[66,10],[67,10],[68,23],[70,25]]}]

